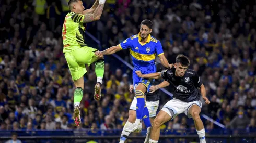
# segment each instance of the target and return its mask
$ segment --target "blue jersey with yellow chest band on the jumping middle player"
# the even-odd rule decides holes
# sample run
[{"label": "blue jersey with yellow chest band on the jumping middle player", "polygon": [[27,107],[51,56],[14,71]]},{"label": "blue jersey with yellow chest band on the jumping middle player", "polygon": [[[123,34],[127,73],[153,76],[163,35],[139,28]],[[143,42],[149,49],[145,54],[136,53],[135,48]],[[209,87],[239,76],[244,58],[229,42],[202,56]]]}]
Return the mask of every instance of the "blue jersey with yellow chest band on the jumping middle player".
[{"label": "blue jersey with yellow chest band on the jumping middle player", "polygon": [[133,70],[140,70],[142,74],[156,72],[156,55],[164,54],[160,41],[150,34],[145,43],[141,43],[141,36],[137,34],[124,40],[119,44],[119,47],[121,49],[129,48],[134,65]]}]

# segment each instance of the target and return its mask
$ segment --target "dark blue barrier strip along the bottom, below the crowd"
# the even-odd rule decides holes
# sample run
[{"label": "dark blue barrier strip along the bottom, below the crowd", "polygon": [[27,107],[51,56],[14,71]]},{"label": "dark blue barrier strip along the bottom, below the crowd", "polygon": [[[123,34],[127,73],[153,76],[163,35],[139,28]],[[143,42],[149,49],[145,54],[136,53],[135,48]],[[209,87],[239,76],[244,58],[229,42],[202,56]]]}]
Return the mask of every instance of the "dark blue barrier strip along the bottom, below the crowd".
[{"label": "dark blue barrier strip along the bottom, below the crowd", "polygon": [[[86,142],[94,140],[97,142],[119,142],[121,130],[19,130],[0,131],[0,142],[10,139],[12,133],[16,133],[23,142]],[[146,131],[133,133],[129,136],[132,142],[143,142]],[[254,142],[256,129],[212,129],[206,130],[207,142]],[[160,134],[161,142],[197,142],[198,136],[195,129],[170,129],[162,130]]]}]

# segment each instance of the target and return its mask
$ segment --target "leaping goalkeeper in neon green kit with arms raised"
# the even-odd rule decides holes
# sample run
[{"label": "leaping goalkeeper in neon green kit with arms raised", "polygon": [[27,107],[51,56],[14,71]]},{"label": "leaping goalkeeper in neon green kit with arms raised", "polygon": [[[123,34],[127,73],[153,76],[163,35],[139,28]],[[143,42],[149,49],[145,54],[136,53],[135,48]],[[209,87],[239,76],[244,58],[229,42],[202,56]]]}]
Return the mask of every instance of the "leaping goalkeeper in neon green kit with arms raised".
[{"label": "leaping goalkeeper in neon green kit with arms raised", "polygon": [[88,47],[84,42],[86,23],[100,19],[104,3],[106,0],[97,0],[90,9],[85,9],[80,0],[70,0],[68,2],[69,12],[63,23],[63,53],[67,60],[68,68],[76,86],[74,92],[74,121],[76,126],[81,123],[80,101],[83,98],[84,74],[87,72],[85,64],[90,66],[95,62],[95,72],[97,84],[95,85],[94,99],[100,100],[101,83],[104,75],[103,56],[96,56],[95,48]]}]

